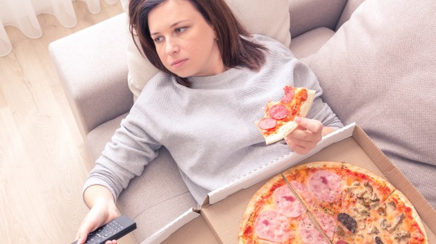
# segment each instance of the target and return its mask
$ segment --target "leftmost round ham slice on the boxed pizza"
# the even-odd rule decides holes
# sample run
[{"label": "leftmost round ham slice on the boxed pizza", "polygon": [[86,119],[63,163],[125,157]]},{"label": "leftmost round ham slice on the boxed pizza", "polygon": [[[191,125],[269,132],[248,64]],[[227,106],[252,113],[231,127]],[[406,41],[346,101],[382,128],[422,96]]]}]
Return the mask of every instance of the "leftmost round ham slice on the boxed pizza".
[{"label": "leftmost round ham slice on the boxed pizza", "polygon": [[272,210],[264,211],[257,217],[255,231],[259,238],[274,242],[281,241],[291,234],[288,219]]}]

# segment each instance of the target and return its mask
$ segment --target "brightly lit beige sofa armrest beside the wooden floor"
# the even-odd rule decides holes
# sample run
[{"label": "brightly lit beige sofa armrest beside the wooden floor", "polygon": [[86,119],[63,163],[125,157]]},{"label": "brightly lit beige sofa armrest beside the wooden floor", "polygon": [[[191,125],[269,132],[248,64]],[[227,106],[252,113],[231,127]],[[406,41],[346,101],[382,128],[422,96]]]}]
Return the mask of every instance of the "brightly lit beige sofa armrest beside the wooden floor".
[{"label": "brightly lit beige sofa armrest beside the wooden floor", "polygon": [[122,13],[49,45],[65,95],[85,137],[133,105],[127,86],[127,15]]}]

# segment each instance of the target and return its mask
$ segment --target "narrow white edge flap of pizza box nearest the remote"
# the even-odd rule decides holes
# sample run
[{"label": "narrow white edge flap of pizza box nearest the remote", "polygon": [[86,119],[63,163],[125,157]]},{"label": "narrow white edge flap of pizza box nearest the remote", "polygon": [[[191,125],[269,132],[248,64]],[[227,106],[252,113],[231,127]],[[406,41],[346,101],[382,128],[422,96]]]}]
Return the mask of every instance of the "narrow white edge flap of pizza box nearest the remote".
[{"label": "narrow white edge flap of pizza box nearest the remote", "polygon": [[153,235],[149,236],[141,244],[162,243],[163,240],[167,239],[172,233],[180,229],[181,226],[184,226],[188,222],[191,222],[191,220],[195,219],[199,215],[200,213],[198,212],[198,210],[194,210],[193,208],[190,208],[182,215],[177,217],[177,219],[174,219],[172,222],[169,222],[169,224],[164,226],[162,229],[153,233]]}]

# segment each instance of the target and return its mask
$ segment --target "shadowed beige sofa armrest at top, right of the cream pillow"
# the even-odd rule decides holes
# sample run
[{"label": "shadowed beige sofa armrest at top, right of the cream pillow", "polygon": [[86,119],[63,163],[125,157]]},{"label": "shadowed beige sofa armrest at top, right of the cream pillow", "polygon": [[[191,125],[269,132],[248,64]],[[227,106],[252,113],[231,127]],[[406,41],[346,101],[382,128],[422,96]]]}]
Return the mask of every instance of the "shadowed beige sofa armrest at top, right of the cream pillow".
[{"label": "shadowed beige sofa armrest at top, right of the cream pillow", "polygon": [[347,0],[289,0],[290,36],[319,27],[335,30]]}]

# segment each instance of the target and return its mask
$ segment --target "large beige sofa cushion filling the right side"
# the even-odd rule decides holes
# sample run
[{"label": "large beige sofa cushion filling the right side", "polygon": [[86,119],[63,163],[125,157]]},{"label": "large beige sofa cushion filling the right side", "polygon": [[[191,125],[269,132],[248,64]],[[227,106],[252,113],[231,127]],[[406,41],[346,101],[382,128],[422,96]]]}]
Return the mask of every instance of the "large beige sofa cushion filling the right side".
[{"label": "large beige sofa cushion filling the right side", "polygon": [[366,0],[309,65],[342,122],[357,122],[433,208],[435,23],[434,0]]}]

